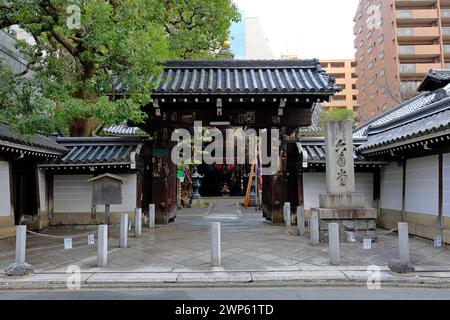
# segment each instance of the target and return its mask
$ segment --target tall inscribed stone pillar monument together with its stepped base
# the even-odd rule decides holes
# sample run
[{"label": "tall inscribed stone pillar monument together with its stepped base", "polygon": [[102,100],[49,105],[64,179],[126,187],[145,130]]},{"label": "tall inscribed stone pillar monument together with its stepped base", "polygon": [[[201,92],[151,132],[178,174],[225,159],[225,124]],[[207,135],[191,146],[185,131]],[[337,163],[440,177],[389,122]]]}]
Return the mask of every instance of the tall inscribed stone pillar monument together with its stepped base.
[{"label": "tall inscribed stone pillar monument together with its stepped base", "polygon": [[[363,195],[356,193],[352,120],[325,123],[327,194],[320,195],[320,238],[328,239],[328,224],[337,223],[341,230],[364,232],[375,230],[377,211],[366,208]],[[340,232],[346,240],[345,232]]]}]

